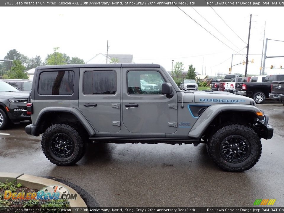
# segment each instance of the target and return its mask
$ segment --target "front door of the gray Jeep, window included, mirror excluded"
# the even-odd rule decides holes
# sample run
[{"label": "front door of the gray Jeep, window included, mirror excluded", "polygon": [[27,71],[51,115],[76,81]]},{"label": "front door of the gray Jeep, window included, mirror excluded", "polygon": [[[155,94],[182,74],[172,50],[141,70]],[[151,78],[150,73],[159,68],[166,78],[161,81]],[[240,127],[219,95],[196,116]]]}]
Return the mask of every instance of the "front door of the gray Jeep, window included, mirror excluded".
[{"label": "front door of the gray Jeep, window included, mirror excluded", "polygon": [[175,133],[178,97],[162,94],[160,68],[122,68],[122,121],[131,133]]}]

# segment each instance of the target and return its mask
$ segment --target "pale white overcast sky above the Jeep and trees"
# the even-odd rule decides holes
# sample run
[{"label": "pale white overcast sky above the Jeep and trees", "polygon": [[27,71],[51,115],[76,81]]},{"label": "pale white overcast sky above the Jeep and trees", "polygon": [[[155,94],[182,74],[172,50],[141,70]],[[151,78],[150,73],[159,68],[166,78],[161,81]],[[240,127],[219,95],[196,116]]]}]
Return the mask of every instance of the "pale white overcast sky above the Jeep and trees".
[{"label": "pale white overcast sky above the Jeep and trees", "polygon": [[[214,12],[214,10],[215,12]],[[54,47],[85,62],[98,53],[133,54],[135,63],[157,63],[170,71],[172,60],[193,64],[199,73],[227,73],[232,54],[246,54],[252,14],[248,74],[259,74],[264,23],[265,38],[284,41],[283,7],[181,7],[214,38],[177,7],[2,7],[0,59],[11,49],[44,60]],[[211,25],[219,30],[215,30]],[[237,34],[235,34],[227,25]],[[240,37],[240,38],[238,38]],[[242,41],[243,40],[243,41]],[[234,51],[235,50],[235,51]],[[284,55],[284,42],[268,41],[267,56]],[[245,55],[234,55],[233,65]],[[202,66],[203,64],[203,66]],[[284,58],[266,60],[268,74],[284,72]],[[245,65],[232,73],[244,73]]]}]

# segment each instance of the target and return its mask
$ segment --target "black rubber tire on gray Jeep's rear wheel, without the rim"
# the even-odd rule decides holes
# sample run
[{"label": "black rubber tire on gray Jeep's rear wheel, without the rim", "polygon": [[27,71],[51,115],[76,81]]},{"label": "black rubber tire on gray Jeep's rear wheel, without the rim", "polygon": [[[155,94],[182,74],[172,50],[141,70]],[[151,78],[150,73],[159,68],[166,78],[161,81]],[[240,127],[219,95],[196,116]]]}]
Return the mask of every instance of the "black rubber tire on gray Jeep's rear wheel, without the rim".
[{"label": "black rubber tire on gray Jeep's rear wheel, without the rim", "polygon": [[[52,138],[58,133],[68,135],[73,142],[73,151],[70,156],[60,158],[51,150]],[[42,135],[41,148],[44,155],[51,163],[58,166],[70,166],[77,163],[85,154],[86,143],[82,140],[80,134],[71,126],[66,124],[54,124],[50,126]]]}]

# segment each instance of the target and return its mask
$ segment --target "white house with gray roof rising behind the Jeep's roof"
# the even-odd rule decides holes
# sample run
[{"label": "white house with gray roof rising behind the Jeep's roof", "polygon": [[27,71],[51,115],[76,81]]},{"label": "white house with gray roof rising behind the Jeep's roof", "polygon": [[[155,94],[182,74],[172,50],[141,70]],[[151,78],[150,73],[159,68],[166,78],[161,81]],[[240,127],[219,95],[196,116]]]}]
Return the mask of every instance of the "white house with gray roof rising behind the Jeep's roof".
[{"label": "white house with gray roof rising behind the Jeep's roof", "polygon": [[[123,54],[108,54],[107,63],[109,64],[112,61],[112,58],[117,61],[118,64],[128,63],[133,64],[133,55],[123,55]],[[95,55],[92,59],[88,60],[86,64],[106,64],[106,55],[99,53]]]}]

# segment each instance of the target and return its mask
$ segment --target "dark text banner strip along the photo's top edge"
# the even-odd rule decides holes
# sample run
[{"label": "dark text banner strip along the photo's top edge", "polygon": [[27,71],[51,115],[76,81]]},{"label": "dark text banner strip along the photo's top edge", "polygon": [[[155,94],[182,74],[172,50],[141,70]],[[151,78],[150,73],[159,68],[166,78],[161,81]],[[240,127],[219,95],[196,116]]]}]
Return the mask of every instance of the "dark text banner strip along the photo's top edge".
[{"label": "dark text banner strip along the photo's top edge", "polygon": [[282,1],[210,1],[210,0],[192,0],[192,1],[176,1],[176,0],[48,0],[48,1],[32,1],[32,0],[12,0],[0,1],[1,7],[282,7]]}]

